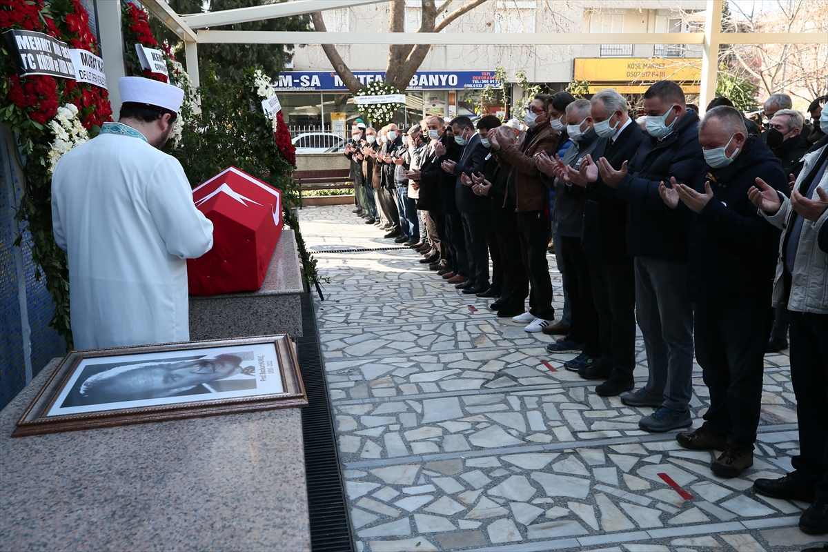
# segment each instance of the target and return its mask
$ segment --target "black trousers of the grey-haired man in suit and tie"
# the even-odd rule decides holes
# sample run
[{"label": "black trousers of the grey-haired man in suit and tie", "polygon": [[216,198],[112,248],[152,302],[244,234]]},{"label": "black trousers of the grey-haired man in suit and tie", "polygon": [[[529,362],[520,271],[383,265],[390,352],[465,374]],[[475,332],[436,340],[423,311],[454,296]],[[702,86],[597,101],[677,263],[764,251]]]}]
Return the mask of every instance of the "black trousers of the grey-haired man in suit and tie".
[{"label": "black trousers of the grey-haired man in suit and tie", "polygon": [[635,369],[635,268],[633,257],[590,262],[592,299],[598,312],[601,362],[613,376],[633,377]]}]

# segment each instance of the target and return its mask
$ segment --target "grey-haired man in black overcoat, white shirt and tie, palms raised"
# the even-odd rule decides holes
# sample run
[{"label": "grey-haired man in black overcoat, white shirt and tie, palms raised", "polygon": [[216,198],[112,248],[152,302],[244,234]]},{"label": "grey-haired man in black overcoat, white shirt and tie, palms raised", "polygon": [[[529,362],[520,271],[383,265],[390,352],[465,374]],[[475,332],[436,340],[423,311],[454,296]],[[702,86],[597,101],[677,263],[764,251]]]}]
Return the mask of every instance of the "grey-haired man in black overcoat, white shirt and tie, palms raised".
[{"label": "grey-haired man in black overcoat, white shirt and tie, palms raised", "polygon": [[[629,118],[627,100],[613,89],[600,90],[590,100],[599,145],[595,158],[604,157],[620,170],[646,136]],[[567,176],[573,186],[570,193],[582,190],[584,224],[581,247],[590,266],[595,310],[599,319],[600,363],[609,370],[607,381],[595,388],[599,395],[614,396],[633,382],[635,369],[635,271],[633,257],[627,254],[624,229],[627,203],[617,197],[614,188],[605,185],[592,158],[581,170],[569,168]],[[580,186],[580,188],[578,187]]]}]

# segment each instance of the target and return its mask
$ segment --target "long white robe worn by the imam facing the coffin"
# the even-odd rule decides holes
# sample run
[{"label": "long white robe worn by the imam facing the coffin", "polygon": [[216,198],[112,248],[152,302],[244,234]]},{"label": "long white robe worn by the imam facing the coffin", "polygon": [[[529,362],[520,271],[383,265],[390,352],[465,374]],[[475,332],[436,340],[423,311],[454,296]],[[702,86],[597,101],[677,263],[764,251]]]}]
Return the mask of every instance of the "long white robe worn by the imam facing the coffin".
[{"label": "long white robe worn by the imam facing the coffin", "polygon": [[213,247],[213,223],[175,157],[101,134],[58,161],[51,208],[75,348],[190,340],[185,259]]}]

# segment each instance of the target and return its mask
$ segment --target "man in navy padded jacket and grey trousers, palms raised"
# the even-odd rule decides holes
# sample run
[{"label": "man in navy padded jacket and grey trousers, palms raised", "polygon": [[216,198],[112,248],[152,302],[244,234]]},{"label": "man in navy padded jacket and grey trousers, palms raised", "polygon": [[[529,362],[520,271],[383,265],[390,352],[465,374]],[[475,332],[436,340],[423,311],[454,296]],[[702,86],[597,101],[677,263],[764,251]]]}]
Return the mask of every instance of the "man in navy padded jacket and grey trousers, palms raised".
[{"label": "man in navy padded jacket and grey trousers, palms raised", "polygon": [[[686,286],[687,235],[668,214],[658,185],[675,176],[691,182],[704,167],[698,114],[686,108],[684,91],[669,80],[644,94],[649,137],[616,170],[606,159],[597,166],[605,185],[627,201],[627,252],[635,257],[635,300],[644,336],[649,379],[621,397],[631,406],[657,406],[638,422],[647,431],[692,424],[693,310]],[[628,386],[632,388],[632,386]]]}]

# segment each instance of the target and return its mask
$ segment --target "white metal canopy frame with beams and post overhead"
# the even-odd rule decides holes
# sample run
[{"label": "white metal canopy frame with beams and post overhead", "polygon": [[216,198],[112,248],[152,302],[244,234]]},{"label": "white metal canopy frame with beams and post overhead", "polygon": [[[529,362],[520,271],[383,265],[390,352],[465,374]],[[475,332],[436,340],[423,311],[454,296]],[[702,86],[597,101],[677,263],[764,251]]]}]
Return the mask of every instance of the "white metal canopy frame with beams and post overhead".
[{"label": "white metal canopy frame with beams and post overhead", "polygon": [[715,97],[722,44],[821,44],[824,33],[723,33],[722,3],[707,0],[704,32],[681,33],[445,33],[445,32],[315,32],[315,31],[195,31],[207,26],[262,21],[303,13],[382,3],[388,0],[291,0],[267,6],[243,7],[222,12],[178,15],[164,0],[142,0],[185,43],[187,72],[199,83],[197,45],[202,44],[373,44],[405,45],[423,41],[433,45],[580,45],[580,44],[700,44],[702,45],[699,106]]}]

